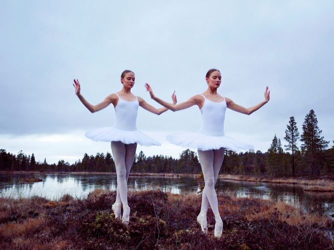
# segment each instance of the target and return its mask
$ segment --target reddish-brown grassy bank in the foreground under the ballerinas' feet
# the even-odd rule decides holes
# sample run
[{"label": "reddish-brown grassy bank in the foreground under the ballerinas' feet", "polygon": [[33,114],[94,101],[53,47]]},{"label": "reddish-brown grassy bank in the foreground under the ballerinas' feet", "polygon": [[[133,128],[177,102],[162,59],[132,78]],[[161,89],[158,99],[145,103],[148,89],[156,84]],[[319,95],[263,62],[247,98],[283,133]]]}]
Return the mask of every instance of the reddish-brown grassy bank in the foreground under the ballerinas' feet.
[{"label": "reddish-brown grassy bank in the foreground under the ballerinas' feet", "polygon": [[69,195],[58,201],[42,197],[0,198],[1,249],[203,249],[334,247],[324,230],[334,230],[326,217],[303,214],[282,202],[232,198],[219,194],[223,235],[213,237],[196,222],[200,196],[161,191],[130,192],[130,224],[115,219],[115,192],[96,189],[86,199]]}]

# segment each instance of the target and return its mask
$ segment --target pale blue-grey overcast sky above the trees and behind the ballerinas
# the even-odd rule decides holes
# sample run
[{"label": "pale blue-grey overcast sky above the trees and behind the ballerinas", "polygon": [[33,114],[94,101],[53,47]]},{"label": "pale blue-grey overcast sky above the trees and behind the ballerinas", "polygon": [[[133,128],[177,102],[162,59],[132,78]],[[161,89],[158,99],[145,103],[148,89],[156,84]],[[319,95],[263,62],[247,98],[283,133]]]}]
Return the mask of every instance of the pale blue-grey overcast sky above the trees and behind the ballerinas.
[{"label": "pale blue-grey overcast sky above the trees and behind the ballerinas", "polygon": [[[334,1],[12,1],[0,2],[0,148],[35,153],[49,163],[110,150],[85,131],[111,126],[115,112],[90,113],[74,93],[73,78],[93,104],[121,89],[120,74],[136,74],[133,93],[149,98],[144,83],[178,101],[206,89],[205,74],[220,69],[218,92],[243,106],[270,101],[250,116],[227,110],[225,134],[266,151],[286,124],[298,129],[311,108],[326,140],[334,140]],[[172,131],[197,131],[198,107],[160,116],[139,109],[137,127],[161,147],[146,155],[178,157]],[[300,145],[300,143],[299,143]]]}]

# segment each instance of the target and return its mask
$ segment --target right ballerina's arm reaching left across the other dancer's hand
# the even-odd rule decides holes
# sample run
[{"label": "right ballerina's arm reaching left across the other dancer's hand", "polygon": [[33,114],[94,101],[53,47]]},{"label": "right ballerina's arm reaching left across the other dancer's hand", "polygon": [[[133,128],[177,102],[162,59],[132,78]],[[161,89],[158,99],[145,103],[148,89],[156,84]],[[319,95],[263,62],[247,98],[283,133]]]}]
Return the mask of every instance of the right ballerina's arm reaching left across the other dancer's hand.
[{"label": "right ballerina's arm reaching left across the other dancer's hand", "polygon": [[153,90],[152,90],[152,88],[150,86],[150,84],[145,83],[145,87],[146,87],[146,90],[150,92],[150,95],[151,95],[152,99],[154,99],[156,102],[158,102],[161,105],[169,108],[172,111],[177,111],[177,110],[185,109],[185,108],[191,107],[193,105],[198,105],[200,103],[200,97],[198,97],[198,94],[197,94],[197,95],[194,95],[194,96],[190,97],[186,101],[183,101],[183,102],[181,102],[179,104],[176,104],[177,99],[176,99],[175,91],[172,94],[173,103],[169,103],[169,102],[164,101],[164,100],[158,98],[157,96],[155,96],[154,93],[153,93]]}]

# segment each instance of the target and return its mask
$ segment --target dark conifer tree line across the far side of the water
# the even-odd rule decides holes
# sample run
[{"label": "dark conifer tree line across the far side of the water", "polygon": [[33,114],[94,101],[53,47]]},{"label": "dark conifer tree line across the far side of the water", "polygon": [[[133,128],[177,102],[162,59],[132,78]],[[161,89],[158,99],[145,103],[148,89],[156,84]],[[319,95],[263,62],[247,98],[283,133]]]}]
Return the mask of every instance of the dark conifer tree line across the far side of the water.
[{"label": "dark conifer tree line across the far side of the water", "polygon": [[[294,116],[291,116],[285,130],[285,151],[276,134],[266,152],[258,150],[236,153],[225,150],[221,173],[270,177],[332,175],[334,146],[327,148],[329,141],[324,140],[321,132],[313,109],[305,116],[301,135]],[[27,156],[20,151],[15,155],[5,149],[0,149],[0,170],[116,172],[115,162],[109,152],[96,155],[85,153],[82,159],[73,164],[63,159],[57,164],[49,164],[46,159],[37,162],[34,153]],[[146,156],[140,151],[131,171],[199,173],[201,167],[197,153],[190,149],[182,151],[177,159],[165,155]]]}]

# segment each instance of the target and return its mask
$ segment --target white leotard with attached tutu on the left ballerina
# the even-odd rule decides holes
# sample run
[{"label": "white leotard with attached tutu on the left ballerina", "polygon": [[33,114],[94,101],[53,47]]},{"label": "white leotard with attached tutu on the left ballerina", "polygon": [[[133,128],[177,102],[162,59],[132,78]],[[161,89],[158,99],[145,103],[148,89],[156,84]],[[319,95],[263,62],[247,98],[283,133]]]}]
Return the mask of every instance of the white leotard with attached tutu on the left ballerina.
[{"label": "white leotard with attached tutu on the left ballerina", "polygon": [[136,127],[139,102],[122,99],[117,93],[118,102],[115,107],[116,121],[113,127],[101,127],[86,132],[86,137],[95,141],[122,141],[125,144],[139,143],[145,146],[161,145],[161,143]]}]

